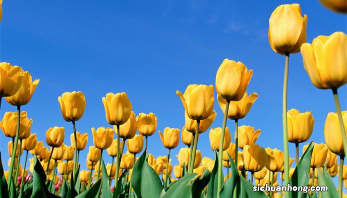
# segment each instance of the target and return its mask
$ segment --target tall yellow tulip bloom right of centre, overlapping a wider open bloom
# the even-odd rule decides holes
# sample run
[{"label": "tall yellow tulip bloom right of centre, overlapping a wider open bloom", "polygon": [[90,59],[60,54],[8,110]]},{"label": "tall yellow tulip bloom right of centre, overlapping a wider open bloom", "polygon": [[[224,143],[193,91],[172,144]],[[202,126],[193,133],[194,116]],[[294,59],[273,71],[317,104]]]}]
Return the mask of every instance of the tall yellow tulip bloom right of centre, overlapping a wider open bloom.
[{"label": "tall yellow tulip bloom right of centre, overlapping a wider open bloom", "polygon": [[252,75],[253,70],[247,70],[242,62],[224,59],[216,75],[218,95],[228,101],[242,99]]}]

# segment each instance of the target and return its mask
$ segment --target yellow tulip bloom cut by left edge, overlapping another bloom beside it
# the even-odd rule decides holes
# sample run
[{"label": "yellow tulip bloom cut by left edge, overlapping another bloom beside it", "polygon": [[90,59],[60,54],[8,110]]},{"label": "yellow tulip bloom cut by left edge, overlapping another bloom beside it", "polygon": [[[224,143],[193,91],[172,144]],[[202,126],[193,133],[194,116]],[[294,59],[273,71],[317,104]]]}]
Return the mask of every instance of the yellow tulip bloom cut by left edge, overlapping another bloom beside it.
[{"label": "yellow tulip bloom cut by left edge, overlapping another bloom beside it", "polygon": [[[0,6],[1,20],[1,6]],[[13,96],[18,92],[23,78],[23,70],[21,67],[12,66],[7,62],[0,62],[0,97]]]}]

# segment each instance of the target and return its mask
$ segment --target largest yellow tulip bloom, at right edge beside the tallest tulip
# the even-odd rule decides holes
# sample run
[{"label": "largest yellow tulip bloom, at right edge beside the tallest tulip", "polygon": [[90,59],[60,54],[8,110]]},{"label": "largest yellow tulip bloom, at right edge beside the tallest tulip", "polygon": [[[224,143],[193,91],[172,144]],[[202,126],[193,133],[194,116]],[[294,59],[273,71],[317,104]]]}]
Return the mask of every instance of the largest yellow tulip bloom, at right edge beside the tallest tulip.
[{"label": "largest yellow tulip bloom, at right edge beside the tallest tulip", "polygon": [[301,46],[305,70],[319,89],[340,88],[347,83],[347,35],[335,32],[318,36]]}]

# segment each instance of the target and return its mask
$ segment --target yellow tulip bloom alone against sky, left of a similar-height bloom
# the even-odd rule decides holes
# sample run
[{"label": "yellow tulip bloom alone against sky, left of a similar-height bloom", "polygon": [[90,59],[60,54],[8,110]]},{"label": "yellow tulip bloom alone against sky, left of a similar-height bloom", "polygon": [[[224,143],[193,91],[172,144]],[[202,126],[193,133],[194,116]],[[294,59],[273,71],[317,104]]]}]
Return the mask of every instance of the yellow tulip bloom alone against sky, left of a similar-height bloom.
[{"label": "yellow tulip bloom alone against sky, left of a similar-height bloom", "polygon": [[82,92],[65,92],[58,97],[62,117],[65,121],[81,119],[86,108],[86,98]]}]

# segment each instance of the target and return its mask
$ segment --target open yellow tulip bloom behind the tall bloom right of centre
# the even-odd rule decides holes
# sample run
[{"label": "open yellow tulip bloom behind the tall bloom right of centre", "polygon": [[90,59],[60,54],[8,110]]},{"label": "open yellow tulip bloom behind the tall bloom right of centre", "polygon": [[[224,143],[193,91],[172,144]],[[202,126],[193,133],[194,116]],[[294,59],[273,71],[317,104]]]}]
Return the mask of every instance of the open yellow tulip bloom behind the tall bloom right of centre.
[{"label": "open yellow tulip bloom behind the tall bloom right of centre", "polygon": [[[231,120],[239,120],[244,118],[249,110],[251,109],[253,103],[258,98],[257,93],[252,93],[247,96],[247,92],[244,93],[242,99],[238,101],[230,101],[228,118]],[[223,113],[225,112],[227,100],[223,99],[221,96],[217,96],[218,104],[221,107]]]}]

